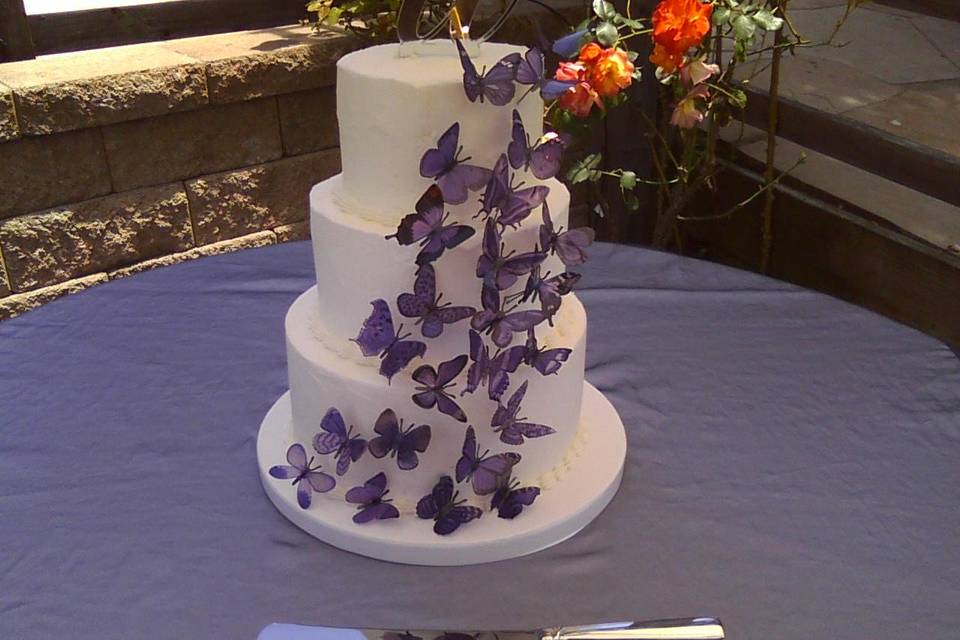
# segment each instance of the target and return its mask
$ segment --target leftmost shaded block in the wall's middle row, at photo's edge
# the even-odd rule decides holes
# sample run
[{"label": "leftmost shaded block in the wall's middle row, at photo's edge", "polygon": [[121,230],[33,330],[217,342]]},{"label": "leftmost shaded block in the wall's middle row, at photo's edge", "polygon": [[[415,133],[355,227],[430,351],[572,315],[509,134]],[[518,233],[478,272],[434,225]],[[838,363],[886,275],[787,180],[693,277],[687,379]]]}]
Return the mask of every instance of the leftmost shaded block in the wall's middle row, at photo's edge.
[{"label": "leftmost shaded block in the wall's middle row, at photo's edge", "polygon": [[0,143],[0,219],[110,193],[96,129]]}]

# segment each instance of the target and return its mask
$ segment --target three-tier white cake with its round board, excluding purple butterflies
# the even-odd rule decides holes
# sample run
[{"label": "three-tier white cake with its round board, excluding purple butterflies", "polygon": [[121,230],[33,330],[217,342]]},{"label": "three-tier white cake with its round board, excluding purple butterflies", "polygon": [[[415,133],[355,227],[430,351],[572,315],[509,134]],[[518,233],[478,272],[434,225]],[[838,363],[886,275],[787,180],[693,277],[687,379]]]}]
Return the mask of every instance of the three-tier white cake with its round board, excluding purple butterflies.
[{"label": "three-tier white cake with its round board, excluding purple butterflies", "polygon": [[[504,55],[518,51],[509,45],[484,43],[474,56],[477,68],[492,67]],[[622,424],[612,406],[584,381],[587,317],[575,294],[565,295],[550,323],[536,328],[541,349],[568,348],[569,356],[556,372],[543,375],[521,366],[509,376],[506,404],[524,383],[523,418],[549,425],[545,437],[507,444],[491,428],[500,406],[484,389],[461,394],[466,369],[448,391],[467,422],[411,401],[421,386],[411,378],[417,367],[466,355],[470,351],[470,319],[447,324],[441,335],[424,338],[414,319],[397,308],[398,294],[413,291],[418,265],[416,246],[389,239],[398,223],[414,210],[432,180],[421,175],[421,158],[453,123],[459,123],[460,159],[493,167],[511,139],[513,108],[527,133],[542,133],[543,103],[536,92],[507,106],[470,102],[464,96],[463,71],[452,42],[420,46],[414,55],[401,55],[400,45],[384,45],[352,53],[337,66],[337,113],[343,172],[310,193],[310,224],[317,285],[291,306],[285,322],[289,394],[267,416],[258,440],[264,487],[276,506],[297,525],[336,546],[373,557],[417,564],[469,564],[530,553],[576,533],[609,502],[619,486],[625,454]],[[538,181],[518,172],[526,186],[549,187],[546,204],[555,227],[568,226],[569,194],[557,180]],[[479,193],[467,202],[447,205],[450,223],[477,227],[478,232],[433,263],[436,290],[443,302],[480,307],[481,282],[477,263],[483,253],[483,224],[476,219]],[[541,216],[503,229],[503,251],[530,251],[540,241]],[[566,269],[556,255],[541,269],[558,274]],[[504,296],[523,291],[520,278]],[[519,299],[519,296],[515,296]],[[397,329],[423,341],[426,352],[389,381],[378,368],[381,360],[364,357],[355,341],[371,314],[371,302],[387,301]],[[536,308],[533,300],[519,308]],[[513,344],[523,344],[518,333]],[[495,349],[496,347],[493,347]],[[402,418],[404,427],[430,425],[429,446],[418,453],[414,469],[401,469],[390,456],[360,455],[343,475],[335,475],[336,460],[313,451],[311,442],[331,407],[353,427],[353,435],[370,440],[385,409]],[[456,531],[438,536],[430,522],[417,517],[417,503],[431,494],[443,476],[456,477],[466,430],[472,427],[480,453],[514,452],[522,460],[512,480],[538,487],[540,495],[519,516],[497,517],[490,495],[476,495],[469,482],[457,484],[459,498],[482,510],[483,517]],[[270,477],[271,465],[283,462],[293,443],[302,443],[314,464],[334,476],[336,487],[314,496],[309,509],[296,501],[296,488]],[[511,454],[512,455],[512,454]],[[357,524],[355,504],[346,493],[377,474],[385,475],[399,517]]]}]

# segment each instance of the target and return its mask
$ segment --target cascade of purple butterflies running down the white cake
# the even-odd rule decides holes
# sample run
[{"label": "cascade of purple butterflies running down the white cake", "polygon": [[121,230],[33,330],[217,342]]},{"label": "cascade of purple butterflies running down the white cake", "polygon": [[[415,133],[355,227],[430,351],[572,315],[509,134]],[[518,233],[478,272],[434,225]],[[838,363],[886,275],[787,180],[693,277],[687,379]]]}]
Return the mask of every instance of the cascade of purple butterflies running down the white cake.
[{"label": "cascade of purple butterflies running down the white cake", "polygon": [[[544,71],[543,53],[531,48],[521,56],[511,53],[497,62],[489,71],[478,73],[462,43],[456,40],[463,67],[463,87],[470,102],[489,101],[496,106],[509,104],[516,96],[517,85],[526,86],[526,93],[539,90],[545,99],[555,98],[568,89],[570,83],[550,80]],[[524,94],[524,97],[526,96]],[[521,99],[523,99],[521,97]],[[415,212],[405,216],[396,233],[387,236],[400,245],[419,245],[415,262],[417,272],[412,293],[397,297],[397,309],[406,318],[415,318],[424,338],[432,339],[443,333],[444,326],[470,319],[469,350],[451,360],[419,366],[412,378],[419,385],[411,398],[424,409],[436,408],[454,420],[467,423],[468,417],[457,404],[451,387],[466,368],[464,390],[460,395],[474,393],[486,386],[489,399],[496,403],[490,428],[500,441],[519,446],[526,438],[541,438],[555,433],[552,427],[528,422],[521,415],[521,403],[527,391],[524,381],[509,396],[510,374],[527,366],[540,375],[557,373],[570,356],[566,348],[543,349],[538,345],[536,329],[544,323],[552,325],[562,298],[570,293],[579,280],[578,274],[564,271],[557,275],[542,272],[541,265],[550,255],[556,255],[565,267],[582,264],[587,256],[585,248],[593,241],[593,230],[587,227],[564,231],[554,227],[547,206],[549,187],[523,187],[514,184],[511,171],[529,171],[536,178],[554,177],[560,169],[563,140],[556,133],[547,133],[531,144],[519,111],[513,110],[511,139],[506,152],[501,154],[492,169],[467,164],[469,158],[460,158],[460,124],[453,123],[437,146],[427,150],[420,161],[420,174],[434,183],[416,203]],[[452,306],[442,303],[437,292],[436,263],[447,250],[456,248],[476,233],[469,224],[446,224],[447,204],[462,204],[471,191],[483,190],[480,209],[475,218],[482,218],[482,253],[476,274],[481,280],[480,309]],[[541,209],[542,223],[538,241],[529,251],[505,252],[501,240],[508,228],[518,227],[537,208]],[[522,291],[506,293],[523,276]],[[539,303],[539,308],[521,308]],[[355,339],[366,357],[379,357],[380,374],[388,382],[404,370],[414,358],[422,358],[427,344],[409,339],[394,329],[390,306],[386,300],[372,303],[373,312],[364,321]],[[526,334],[524,344],[510,346],[514,334]],[[495,351],[492,351],[495,349]],[[469,368],[467,363],[470,363]],[[336,408],[330,408],[320,423],[321,431],[314,436],[313,449],[317,454],[336,460],[336,474],[343,476],[365,453],[375,458],[387,456],[396,460],[400,470],[409,471],[419,464],[418,454],[430,445],[429,425],[409,425],[404,428],[392,409],[384,410],[374,425],[377,434],[369,441],[354,434]],[[297,487],[297,501],[307,509],[312,494],[325,493],[336,486],[336,479],[322,470],[315,458],[307,458],[302,444],[294,444],[287,451],[286,465],[269,470],[271,476],[292,480]],[[513,519],[524,507],[530,506],[540,494],[536,486],[520,487],[513,478],[514,468],[521,455],[508,451],[489,455],[481,452],[473,426],[467,426],[462,455],[454,467],[456,484],[468,483],[473,493],[490,496],[490,510],[500,518]],[[484,513],[479,507],[466,504],[459,498],[454,478],[445,475],[433,490],[417,503],[419,518],[433,520],[433,530],[447,535],[461,525],[476,520]],[[387,498],[387,477],[380,472],[363,485],[346,492],[348,503],[356,505],[353,521],[357,524],[400,517],[399,510]]]}]

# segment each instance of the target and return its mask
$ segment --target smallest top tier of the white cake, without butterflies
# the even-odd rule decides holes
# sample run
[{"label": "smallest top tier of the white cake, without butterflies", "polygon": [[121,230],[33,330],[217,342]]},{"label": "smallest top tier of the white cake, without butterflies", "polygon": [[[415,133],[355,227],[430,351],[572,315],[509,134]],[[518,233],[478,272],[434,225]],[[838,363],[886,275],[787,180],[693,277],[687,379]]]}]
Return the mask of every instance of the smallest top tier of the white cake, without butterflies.
[{"label": "smallest top tier of the white cake, without butterflies", "polygon": [[[388,44],[351,53],[337,64],[337,115],[343,164],[342,197],[351,211],[396,224],[431,181],[420,176],[420,158],[454,122],[471,164],[492,167],[510,140],[510,109],[469,103],[454,43],[415,47],[416,64]],[[473,61],[490,68],[520,47],[487,42]],[[516,102],[524,93],[517,91]],[[527,133],[542,133],[543,102],[534,92],[517,105]],[[471,198],[473,200],[473,198]],[[476,207],[472,213],[475,213]]]}]

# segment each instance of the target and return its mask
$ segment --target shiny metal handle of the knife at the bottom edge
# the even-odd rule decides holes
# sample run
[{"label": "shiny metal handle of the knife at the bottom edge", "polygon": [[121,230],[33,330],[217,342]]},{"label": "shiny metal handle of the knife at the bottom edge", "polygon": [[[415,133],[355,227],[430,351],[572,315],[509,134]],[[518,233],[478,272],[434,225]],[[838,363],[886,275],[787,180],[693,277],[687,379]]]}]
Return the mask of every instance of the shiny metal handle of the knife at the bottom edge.
[{"label": "shiny metal handle of the knife at the bottom edge", "polygon": [[540,640],[723,640],[717,618],[673,618],[643,622],[607,622],[583,627],[544,629]]}]

